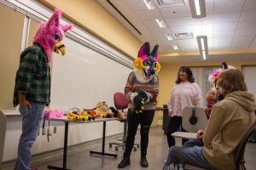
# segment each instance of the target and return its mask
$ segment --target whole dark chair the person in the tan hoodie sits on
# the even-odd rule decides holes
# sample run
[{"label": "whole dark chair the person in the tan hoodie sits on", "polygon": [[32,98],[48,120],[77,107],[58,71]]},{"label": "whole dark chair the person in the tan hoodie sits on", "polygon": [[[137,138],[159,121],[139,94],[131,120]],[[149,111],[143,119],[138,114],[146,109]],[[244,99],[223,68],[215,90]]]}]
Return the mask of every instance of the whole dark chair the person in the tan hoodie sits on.
[{"label": "whole dark chair the person in the tan hoodie sits on", "polygon": [[[245,160],[244,160],[244,151],[246,149],[247,140],[250,138],[251,134],[253,133],[253,129],[256,127],[256,122],[254,122],[253,126],[249,128],[247,133],[242,137],[240,144],[238,144],[236,148],[236,170],[246,170],[246,167],[244,166]],[[184,169],[199,169],[200,167],[195,167],[190,164],[185,164]]]}]

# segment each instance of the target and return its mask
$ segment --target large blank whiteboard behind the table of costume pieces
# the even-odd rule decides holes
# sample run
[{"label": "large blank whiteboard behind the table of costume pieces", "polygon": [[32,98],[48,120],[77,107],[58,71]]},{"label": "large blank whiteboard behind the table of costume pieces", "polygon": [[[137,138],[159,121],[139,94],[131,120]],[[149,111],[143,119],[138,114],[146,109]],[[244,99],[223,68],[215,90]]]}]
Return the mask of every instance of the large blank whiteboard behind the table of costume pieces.
[{"label": "large blank whiteboard behind the table of costume pieces", "polygon": [[113,94],[123,92],[131,68],[66,37],[66,54],[54,54],[50,108],[92,109],[99,100],[113,105]]}]

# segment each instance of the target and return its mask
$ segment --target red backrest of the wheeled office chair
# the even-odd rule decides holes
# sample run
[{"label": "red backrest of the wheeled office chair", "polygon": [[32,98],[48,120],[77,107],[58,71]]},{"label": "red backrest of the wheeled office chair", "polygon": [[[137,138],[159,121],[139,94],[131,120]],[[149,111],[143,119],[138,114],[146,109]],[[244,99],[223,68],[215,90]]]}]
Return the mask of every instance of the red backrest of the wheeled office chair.
[{"label": "red backrest of the wheeled office chair", "polygon": [[124,110],[128,108],[129,100],[124,93],[117,92],[113,94],[113,103],[116,109]]}]

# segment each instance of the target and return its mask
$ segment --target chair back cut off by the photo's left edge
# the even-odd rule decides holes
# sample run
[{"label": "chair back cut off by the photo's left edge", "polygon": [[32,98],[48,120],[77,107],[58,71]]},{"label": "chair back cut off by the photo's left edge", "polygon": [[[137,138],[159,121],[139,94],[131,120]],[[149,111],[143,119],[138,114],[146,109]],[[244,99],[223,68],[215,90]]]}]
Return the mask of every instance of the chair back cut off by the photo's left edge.
[{"label": "chair back cut off by the photo's left edge", "polygon": [[3,159],[5,131],[6,131],[6,116],[3,115],[3,112],[0,110],[0,165],[2,164],[2,159]]}]

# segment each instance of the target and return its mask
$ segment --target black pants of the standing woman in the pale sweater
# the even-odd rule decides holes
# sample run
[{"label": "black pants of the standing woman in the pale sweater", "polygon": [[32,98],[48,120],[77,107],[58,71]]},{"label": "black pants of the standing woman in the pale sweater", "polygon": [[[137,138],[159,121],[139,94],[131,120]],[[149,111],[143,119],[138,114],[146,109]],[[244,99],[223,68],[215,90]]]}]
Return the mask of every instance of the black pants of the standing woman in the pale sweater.
[{"label": "black pants of the standing woman in the pale sweater", "polygon": [[[166,133],[167,142],[168,142],[169,148],[171,146],[175,145],[175,139],[172,137],[172,133],[177,132],[179,127],[181,127],[181,131],[182,132],[186,132],[183,129],[183,127],[181,126],[182,125],[182,121],[183,121],[183,118],[181,116],[172,116],[172,118],[170,119],[170,122],[168,124],[167,133]],[[183,139],[183,144],[186,141],[187,141],[187,139]]]}]

